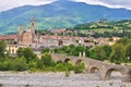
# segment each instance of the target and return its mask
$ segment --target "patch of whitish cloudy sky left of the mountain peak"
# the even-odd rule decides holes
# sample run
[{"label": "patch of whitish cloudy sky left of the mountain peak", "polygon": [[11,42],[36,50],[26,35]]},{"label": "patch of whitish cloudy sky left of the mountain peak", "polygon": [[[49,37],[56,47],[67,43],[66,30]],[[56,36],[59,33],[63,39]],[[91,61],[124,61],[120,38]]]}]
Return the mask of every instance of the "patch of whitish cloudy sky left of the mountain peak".
[{"label": "patch of whitish cloudy sky left of the mountain peak", "polygon": [[47,4],[55,0],[0,0],[0,11],[5,11],[22,5]]}]

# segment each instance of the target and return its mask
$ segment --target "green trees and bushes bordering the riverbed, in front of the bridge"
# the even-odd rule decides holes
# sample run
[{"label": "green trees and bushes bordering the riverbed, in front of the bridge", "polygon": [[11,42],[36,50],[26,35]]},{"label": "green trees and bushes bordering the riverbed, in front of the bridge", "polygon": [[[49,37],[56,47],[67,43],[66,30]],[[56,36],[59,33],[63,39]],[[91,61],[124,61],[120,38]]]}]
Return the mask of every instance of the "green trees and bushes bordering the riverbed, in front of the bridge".
[{"label": "green trees and bushes bordering the riverbed, in front of the bridge", "polygon": [[29,71],[29,72],[70,72],[82,73],[85,69],[83,62],[73,65],[68,62],[55,62],[50,50],[43,49],[38,59],[31,48],[19,48],[16,57],[11,57],[5,50],[5,42],[0,41],[0,71]]}]

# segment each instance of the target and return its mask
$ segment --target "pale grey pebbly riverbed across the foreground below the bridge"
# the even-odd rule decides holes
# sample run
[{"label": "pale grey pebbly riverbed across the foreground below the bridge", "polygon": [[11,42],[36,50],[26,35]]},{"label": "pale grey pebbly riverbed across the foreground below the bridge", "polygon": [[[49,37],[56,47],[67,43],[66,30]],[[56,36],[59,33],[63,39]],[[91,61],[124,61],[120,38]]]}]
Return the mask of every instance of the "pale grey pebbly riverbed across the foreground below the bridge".
[{"label": "pale grey pebbly riverbed across the foreground below the bridge", "polygon": [[121,82],[120,73],[112,73],[109,80],[100,80],[98,74],[64,73],[11,73],[0,72],[0,87],[131,87]]}]

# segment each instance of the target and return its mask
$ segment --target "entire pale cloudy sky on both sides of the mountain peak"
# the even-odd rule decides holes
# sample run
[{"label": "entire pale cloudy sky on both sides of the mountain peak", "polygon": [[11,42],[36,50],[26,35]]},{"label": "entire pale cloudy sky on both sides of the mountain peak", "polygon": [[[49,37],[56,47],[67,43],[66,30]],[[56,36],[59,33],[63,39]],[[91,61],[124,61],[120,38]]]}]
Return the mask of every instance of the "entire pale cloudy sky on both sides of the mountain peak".
[{"label": "entire pale cloudy sky on both sides of the mountain peak", "polygon": [[[0,0],[0,11],[5,11],[22,5],[39,5],[51,3],[56,0]],[[108,8],[126,8],[131,10],[131,0],[73,0],[88,4],[100,4]]]}]

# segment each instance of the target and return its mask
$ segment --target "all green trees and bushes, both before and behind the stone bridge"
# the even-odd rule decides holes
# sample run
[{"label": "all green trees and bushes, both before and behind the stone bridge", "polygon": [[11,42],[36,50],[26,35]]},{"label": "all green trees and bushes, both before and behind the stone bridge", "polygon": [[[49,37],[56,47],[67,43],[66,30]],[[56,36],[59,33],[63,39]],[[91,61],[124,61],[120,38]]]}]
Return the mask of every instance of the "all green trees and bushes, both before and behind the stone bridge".
[{"label": "all green trees and bushes, both before and behind the stone bridge", "polygon": [[67,53],[79,57],[80,52],[99,61],[108,61],[116,64],[131,63],[131,39],[122,38],[112,46],[96,46],[94,48],[83,46],[63,46],[56,49],[45,48],[41,50],[41,58],[38,59],[31,48],[20,48],[16,57],[11,57],[5,51],[5,42],[0,41],[0,71],[31,71],[31,72],[70,72],[82,73],[85,70],[83,62],[75,65],[68,62],[55,62],[50,51],[55,53]]}]

